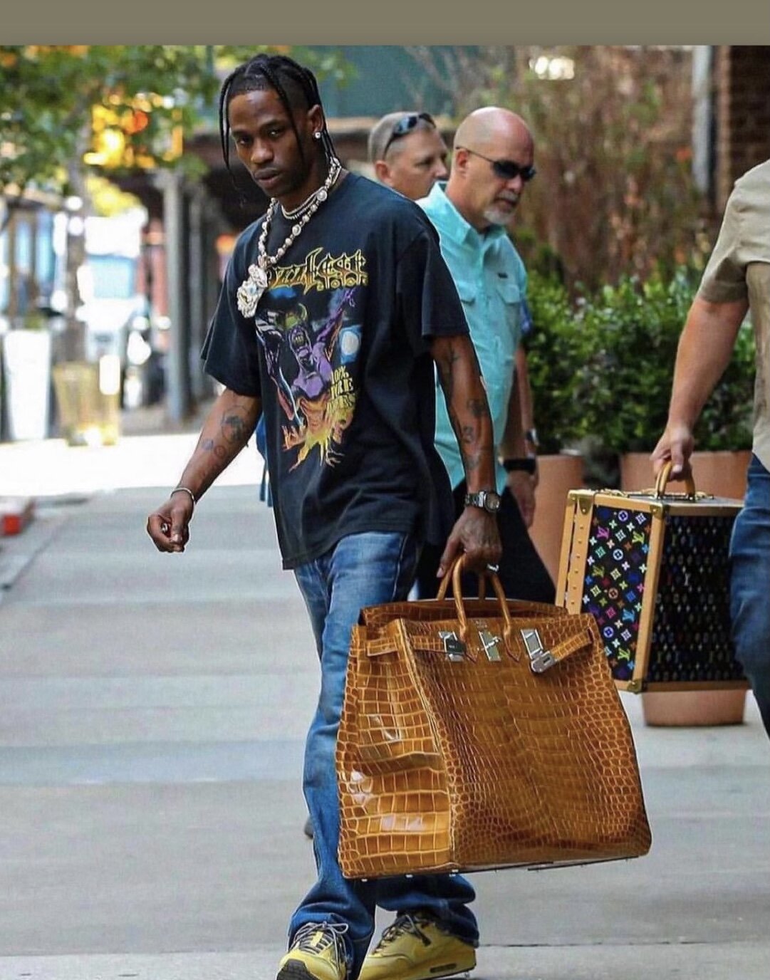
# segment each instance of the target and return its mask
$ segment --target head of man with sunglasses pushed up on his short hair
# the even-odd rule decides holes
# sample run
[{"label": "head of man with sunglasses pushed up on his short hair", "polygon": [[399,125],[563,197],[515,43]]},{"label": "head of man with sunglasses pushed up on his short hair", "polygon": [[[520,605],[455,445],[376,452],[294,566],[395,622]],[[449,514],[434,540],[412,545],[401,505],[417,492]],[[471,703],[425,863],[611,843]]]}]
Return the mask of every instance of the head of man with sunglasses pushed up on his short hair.
[{"label": "head of man with sunglasses pushed up on his short hair", "polygon": [[435,180],[449,176],[449,150],[428,113],[388,113],[368,140],[369,163],[380,183],[412,201],[424,197]]}]

